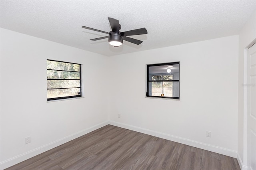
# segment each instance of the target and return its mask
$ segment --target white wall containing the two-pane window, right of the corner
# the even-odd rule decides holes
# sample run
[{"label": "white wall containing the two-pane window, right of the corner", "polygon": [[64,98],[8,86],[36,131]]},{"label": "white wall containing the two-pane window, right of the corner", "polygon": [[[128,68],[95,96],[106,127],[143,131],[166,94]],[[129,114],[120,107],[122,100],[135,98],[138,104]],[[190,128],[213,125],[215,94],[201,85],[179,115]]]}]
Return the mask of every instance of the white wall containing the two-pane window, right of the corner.
[{"label": "white wall containing the two-pane window, right of the corner", "polygon": [[[180,101],[145,98],[146,64],[175,61]],[[110,67],[111,124],[236,157],[238,36],[118,55]]]}]

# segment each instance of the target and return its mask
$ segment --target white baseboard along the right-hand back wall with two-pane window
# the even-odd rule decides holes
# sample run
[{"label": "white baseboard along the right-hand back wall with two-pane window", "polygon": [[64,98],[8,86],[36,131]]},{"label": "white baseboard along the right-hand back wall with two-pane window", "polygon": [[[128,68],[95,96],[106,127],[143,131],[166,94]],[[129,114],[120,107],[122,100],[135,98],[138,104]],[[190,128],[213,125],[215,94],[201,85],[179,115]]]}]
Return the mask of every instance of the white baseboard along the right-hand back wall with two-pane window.
[{"label": "white baseboard along the right-hand back wall with two-pane window", "polygon": [[196,147],[196,148],[201,148],[201,149],[208,150],[208,151],[211,151],[211,152],[216,152],[218,154],[223,154],[223,155],[230,156],[230,157],[233,157],[233,158],[237,158],[237,152],[235,150],[221,148],[219,146],[214,146],[214,145],[210,145],[210,144],[206,144],[206,143],[202,143],[202,142],[197,142],[197,141],[194,141],[194,140],[189,140],[189,139],[186,139],[186,138],[181,138],[181,137],[178,137],[178,136],[173,136],[173,135],[165,134],[165,133],[162,133],[162,132],[156,132],[154,130],[149,130],[149,129],[146,129],[146,128],[135,127],[135,126],[132,126],[132,125],[127,125],[127,124],[119,123],[119,122],[115,122],[115,121],[109,121],[109,124],[117,126],[117,127],[121,127],[121,128],[126,128],[126,129],[129,129],[129,130],[134,130],[136,132],[149,134],[149,135],[156,136],[156,137],[159,137],[159,138],[172,140],[174,142],[179,142],[179,143],[182,143],[182,144],[186,144],[186,145],[193,146],[193,147]]}]

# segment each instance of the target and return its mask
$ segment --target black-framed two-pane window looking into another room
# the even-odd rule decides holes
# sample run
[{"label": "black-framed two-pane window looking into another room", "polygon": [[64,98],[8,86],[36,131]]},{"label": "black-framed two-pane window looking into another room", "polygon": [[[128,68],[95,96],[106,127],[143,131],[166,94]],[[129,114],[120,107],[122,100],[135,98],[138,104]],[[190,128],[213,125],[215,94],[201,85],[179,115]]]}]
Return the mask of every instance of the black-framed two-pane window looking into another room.
[{"label": "black-framed two-pane window looking into another room", "polygon": [[180,62],[147,65],[146,96],[180,99]]}]

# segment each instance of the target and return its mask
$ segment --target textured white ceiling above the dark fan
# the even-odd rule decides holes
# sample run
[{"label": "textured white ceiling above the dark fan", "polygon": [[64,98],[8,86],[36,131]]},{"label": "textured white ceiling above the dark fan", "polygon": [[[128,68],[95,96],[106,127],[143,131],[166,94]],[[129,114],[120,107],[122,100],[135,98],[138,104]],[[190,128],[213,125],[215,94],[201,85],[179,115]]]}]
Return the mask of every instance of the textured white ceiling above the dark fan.
[{"label": "textured white ceiling above the dark fan", "polygon": [[[240,1],[132,1],[132,0],[1,0],[1,27],[102,55],[118,55],[236,35],[255,12],[255,0]],[[146,28],[147,35],[130,36],[112,47],[106,36],[81,28],[109,32],[108,17],[122,25],[121,32]]]}]

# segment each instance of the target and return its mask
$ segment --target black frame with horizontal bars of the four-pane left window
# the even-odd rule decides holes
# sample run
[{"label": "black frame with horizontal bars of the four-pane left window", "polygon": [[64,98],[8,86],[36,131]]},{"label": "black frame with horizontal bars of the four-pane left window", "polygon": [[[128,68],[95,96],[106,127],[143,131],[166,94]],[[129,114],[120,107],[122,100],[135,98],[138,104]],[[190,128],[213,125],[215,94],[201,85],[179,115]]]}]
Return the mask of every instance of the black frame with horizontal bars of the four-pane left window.
[{"label": "black frame with horizontal bars of the four-pane left window", "polygon": [[[80,87],[51,88],[51,89],[74,89],[74,88],[80,88],[80,92],[78,92],[80,94],[75,95],[75,96],[65,96],[65,97],[54,97],[54,98],[48,98],[47,97],[47,101],[60,100],[60,99],[69,99],[69,98],[74,98],[74,97],[82,97],[82,69],[81,69],[82,64],[71,63],[71,62],[66,62],[66,61],[57,61],[57,60],[52,60],[52,59],[46,59],[46,61],[56,61],[56,62],[61,62],[61,63],[77,64],[77,65],[79,65],[79,71],[70,71],[70,72],[80,73],[79,79],[48,79],[47,78],[47,80],[80,80]],[[67,71],[67,70],[47,69],[47,68],[46,68],[46,70]],[[48,89],[48,87],[47,87],[47,90],[50,90],[50,89]]]}]

